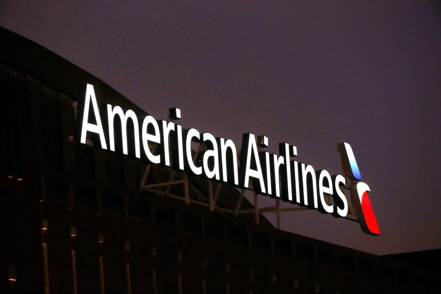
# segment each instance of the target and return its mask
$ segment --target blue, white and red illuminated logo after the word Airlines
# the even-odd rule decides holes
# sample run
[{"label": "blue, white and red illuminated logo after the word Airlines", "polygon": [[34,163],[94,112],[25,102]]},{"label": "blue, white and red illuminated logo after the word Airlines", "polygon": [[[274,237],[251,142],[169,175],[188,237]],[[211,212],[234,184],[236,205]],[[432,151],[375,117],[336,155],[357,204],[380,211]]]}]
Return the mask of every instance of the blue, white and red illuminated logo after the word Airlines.
[{"label": "blue, white and red illuminated logo after the word Airlines", "polygon": [[363,232],[370,235],[380,235],[380,228],[373,213],[372,205],[370,204],[368,192],[369,186],[361,182],[362,179],[360,170],[358,169],[357,161],[355,160],[354,152],[347,143],[339,143],[338,150],[342,158],[343,170],[350,181],[350,191],[352,203],[354,203],[357,212],[358,221]]}]

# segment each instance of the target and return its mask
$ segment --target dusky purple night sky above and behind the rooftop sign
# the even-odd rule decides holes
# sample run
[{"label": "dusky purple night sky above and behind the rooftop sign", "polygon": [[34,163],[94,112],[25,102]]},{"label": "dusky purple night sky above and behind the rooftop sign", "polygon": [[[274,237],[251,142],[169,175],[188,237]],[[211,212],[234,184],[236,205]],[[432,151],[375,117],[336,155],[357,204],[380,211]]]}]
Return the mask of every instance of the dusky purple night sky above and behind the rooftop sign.
[{"label": "dusky purple night sky above and behind the rooftop sign", "polygon": [[383,255],[441,248],[440,11],[410,0],[1,1],[0,25],[156,119],[179,107],[184,128],[237,147],[263,134],[268,151],[288,142],[333,174],[348,142],[382,235],[315,210],[282,214],[282,229]]}]

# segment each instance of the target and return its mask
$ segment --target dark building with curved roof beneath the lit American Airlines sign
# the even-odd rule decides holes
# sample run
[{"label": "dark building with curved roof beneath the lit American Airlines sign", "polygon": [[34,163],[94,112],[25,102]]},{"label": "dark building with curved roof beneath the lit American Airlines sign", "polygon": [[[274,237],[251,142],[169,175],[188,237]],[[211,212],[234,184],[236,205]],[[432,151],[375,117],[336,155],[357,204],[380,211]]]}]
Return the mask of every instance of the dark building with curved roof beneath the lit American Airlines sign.
[{"label": "dark building with curved roof beneath the lit American Airlines sign", "polygon": [[146,113],[0,36],[1,293],[436,292],[440,250],[382,257],[281,231],[234,187],[74,144],[82,84]]}]

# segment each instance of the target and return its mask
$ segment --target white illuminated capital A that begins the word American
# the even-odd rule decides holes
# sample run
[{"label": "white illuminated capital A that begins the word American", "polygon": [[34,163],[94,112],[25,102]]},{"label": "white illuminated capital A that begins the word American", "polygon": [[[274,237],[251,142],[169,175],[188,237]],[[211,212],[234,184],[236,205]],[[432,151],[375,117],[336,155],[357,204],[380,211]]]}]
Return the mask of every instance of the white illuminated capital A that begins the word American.
[{"label": "white illuminated capital A that begins the word American", "polygon": [[[89,107],[91,100],[92,100],[92,107],[94,109],[95,118],[97,119],[97,124],[88,123]],[[83,144],[86,144],[87,132],[97,133],[99,135],[99,140],[101,141],[101,148],[107,149],[106,140],[104,139],[104,132],[102,130],[101,118],[99,117],[99,112],[98,112],[97,98],[95,97],[94,86],[92,86],[91,84],[87,84],[86,98],[84,100],[83,124],[81,127],[81,139],[80,139],[80,142]]]}]

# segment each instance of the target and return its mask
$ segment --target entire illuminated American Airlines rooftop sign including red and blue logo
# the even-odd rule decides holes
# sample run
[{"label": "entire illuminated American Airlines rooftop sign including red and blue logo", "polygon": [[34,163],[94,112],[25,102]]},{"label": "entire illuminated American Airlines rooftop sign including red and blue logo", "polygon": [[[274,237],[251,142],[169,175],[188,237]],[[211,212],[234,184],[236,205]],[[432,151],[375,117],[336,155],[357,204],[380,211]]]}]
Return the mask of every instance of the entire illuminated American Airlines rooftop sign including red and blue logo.
[{"label": "entire illuminated American Airlines rooftop sign including red and blue logo", "polygon": [[[348,203],[342,191],[346,177],[331,175],[326,170],[315,171],[309,164],[292,160],[297,156],[295,146],[280,143],[279,155],[260,151],[256,136],[245,133],[238,158],[236,146],[230,139],[217,138],[210,133],[201,134],[195,128],[183,129],[179,124],[155,120],[149,115],[137,117],[132,110],[123,111],[120,106],[105,104],[99,112],[94,87],[87,84],[84,90],[78,101],[74,133],[77,143],[85,144],[86,138],[91,137],[96,147],[99,144],[102,149],[111,151],[120,148],[123,154],[147,163],[171,167],[238,188],[253,189],[261,195],[307,206],[335,217],[348,214]],[[180,119],[180,110],[175,108],[172,116],[172,119]],[[118,122],[121,128],[116,124]],[[262,138],[259,146],[268,147],[268,138],[259,138]],[[192,142],[203,142],[206,147],[196,160],[193,158]],[[154,145],[156,148],[151,148]],[[359,182],[361,175],[352,149],[349,144],[342,143],[339,150],[344,171],[350,179],[351,198],[361,227],[368,234],[379,235],[367,195],[369,187]],[[326,201],[327,196],[332,197],[333,204]]]}]

